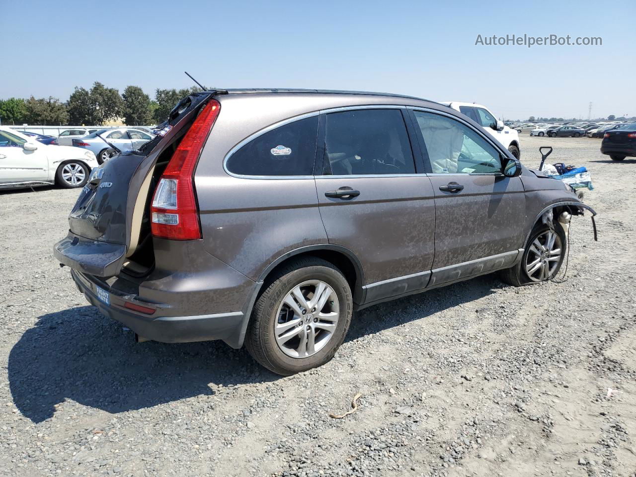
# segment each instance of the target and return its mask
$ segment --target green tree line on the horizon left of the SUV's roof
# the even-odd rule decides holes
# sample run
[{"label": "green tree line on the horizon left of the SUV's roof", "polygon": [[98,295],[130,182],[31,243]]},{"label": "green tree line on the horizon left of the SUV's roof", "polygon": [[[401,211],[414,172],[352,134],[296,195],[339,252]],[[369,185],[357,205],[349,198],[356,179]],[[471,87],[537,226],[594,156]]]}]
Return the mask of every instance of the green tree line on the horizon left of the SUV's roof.
[{"label": "green tree line on the horizon left of the SUV's roof", "polygon": [[123,118],[128,126],[161,123],[183,97],[200,88],[181,90],[157,89],[150,99],[139,86],[126,86],[123,93],[107,88],[95,81],[90,90],[75,86],[66,102],[58,98],[0,99],[0,120],[3,125],[103,125],[107,121]]}]

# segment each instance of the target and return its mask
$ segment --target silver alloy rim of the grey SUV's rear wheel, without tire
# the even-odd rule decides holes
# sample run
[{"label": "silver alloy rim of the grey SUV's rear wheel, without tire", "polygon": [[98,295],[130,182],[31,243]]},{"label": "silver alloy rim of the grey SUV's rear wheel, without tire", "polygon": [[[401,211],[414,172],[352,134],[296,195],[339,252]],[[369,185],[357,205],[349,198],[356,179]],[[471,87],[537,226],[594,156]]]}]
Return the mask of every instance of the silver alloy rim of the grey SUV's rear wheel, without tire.
[{"label": "silver alloy rim of the grey SUV's rear wheel, without tire", "polygon": [[276,343],[287,356],[313,356],[333,338],[340,317],[338,296],[322,280],[307,280],[289,291],[277,311]]}]

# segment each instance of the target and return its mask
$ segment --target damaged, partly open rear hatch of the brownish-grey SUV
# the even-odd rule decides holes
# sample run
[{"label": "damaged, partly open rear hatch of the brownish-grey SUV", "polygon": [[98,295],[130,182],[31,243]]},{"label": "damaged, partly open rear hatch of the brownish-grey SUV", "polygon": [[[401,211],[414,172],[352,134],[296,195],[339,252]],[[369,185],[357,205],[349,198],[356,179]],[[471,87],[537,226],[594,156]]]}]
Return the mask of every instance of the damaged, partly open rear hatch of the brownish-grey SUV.
[{"label": "damaged, partly open rear hatch of the brownish-grey SUV", "polygon": [[[69,216],[67,237],[53,247],[60,263],[97,277],[113,277],[125,263],[134,264],[131,268],[137,270],[151,266],[148,254],[145,263],[141,257],[144,247],[151,247],[151,193],[198,111],[217,93],[206,91],[184,98],[154,139],[93,169]],[[135,260],[135,255],[141,259]]]}]

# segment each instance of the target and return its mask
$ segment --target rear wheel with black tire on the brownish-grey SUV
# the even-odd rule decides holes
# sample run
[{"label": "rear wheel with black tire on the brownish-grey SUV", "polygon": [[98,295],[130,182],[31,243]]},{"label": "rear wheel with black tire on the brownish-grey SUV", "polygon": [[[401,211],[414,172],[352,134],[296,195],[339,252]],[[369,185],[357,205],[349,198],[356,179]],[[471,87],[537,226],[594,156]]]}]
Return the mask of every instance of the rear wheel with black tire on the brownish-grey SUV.
[{"label": "rear wheel with black tire on the brownish-grey SUV", "polygon": [[254,304],[245,347],[283,376],[322,366],[342,344],[353,310],[349,283],[326,260],[285,266]]}]

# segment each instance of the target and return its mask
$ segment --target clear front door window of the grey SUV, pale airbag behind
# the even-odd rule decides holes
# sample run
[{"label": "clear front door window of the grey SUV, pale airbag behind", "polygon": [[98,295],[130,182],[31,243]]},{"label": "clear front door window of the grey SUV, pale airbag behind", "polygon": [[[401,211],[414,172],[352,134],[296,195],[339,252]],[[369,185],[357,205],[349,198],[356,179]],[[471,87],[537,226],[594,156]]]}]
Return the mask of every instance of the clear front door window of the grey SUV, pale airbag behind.
[{"label": "clear front door window of the grey SUV, pale airbag behind", "polygon": [[435,174],[501,174],[499,151],[457,120],[413,111]]}]

